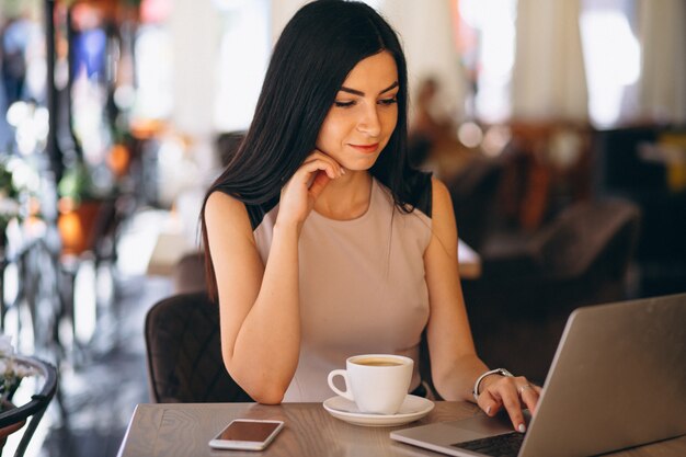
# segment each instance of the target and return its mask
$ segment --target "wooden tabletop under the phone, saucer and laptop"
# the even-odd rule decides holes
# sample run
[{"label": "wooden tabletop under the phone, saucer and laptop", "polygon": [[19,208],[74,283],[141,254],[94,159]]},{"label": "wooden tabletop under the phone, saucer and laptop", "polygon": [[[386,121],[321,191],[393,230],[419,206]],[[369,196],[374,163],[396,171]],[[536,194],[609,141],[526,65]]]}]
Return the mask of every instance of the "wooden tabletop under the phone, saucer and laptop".
[{"label": "wooden tabletop under the phone, saucer and laptop", "polygon": [[[478,414],[472,403],[439,401],[421,421],[396,429],[451,421]],[[284,431],[263,453],[215,450],[207,443],[231,420],[276,419]],[[393,427],[362,427],[334,419],[321,403],[174,403],[138,404],[118,457],[151,456],[433,456],[419,447],[391,441]],[[631,457],[686,456],[686,436],[616,454]]]}]

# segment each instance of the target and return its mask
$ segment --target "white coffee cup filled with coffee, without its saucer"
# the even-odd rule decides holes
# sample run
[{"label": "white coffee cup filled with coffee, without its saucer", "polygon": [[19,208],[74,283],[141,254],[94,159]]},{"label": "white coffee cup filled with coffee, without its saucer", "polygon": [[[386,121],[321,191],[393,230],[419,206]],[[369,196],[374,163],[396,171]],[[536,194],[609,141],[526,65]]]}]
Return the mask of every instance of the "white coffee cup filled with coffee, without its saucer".
[{"label": "white coffee cup filled with coffee, without its saucer", "polygon": [[[412,358],[402,355],[355,355],[345,361],[345,369],[329,373],[329,387],[354,401],[362,412],[395,414],[410,389],[413,365]],[[333,385],[336,376],[345,380],[345,391]]]}]

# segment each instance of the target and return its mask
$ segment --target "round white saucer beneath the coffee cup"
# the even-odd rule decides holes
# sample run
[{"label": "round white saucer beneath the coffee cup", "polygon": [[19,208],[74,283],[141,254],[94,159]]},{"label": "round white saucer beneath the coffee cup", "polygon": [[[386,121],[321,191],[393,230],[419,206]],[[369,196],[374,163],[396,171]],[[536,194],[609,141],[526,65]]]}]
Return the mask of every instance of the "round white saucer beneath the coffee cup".
[{"label": "round white saucer beneath the coffee cup", "polygon": [[357,405],[343,397],[331,397],[323,407],[331,415],[342,421],[363,426],[403,425],[422,419],[434,409],[434,402],[422,397],[408,395],[396,414],[371,414],[359,412]]}]

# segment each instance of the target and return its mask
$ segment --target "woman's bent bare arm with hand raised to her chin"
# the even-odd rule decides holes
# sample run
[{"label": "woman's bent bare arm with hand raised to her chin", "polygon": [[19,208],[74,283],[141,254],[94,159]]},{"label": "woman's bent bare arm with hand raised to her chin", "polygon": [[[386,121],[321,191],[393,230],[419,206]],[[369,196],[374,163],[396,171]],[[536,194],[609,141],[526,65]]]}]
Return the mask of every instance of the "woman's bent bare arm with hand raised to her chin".
[{"label": "woman's bent bare arm with hand raised to her chin", "polygon": [[300,228],[321,190],[340,175],[340,165],[332,159],[313,156],[282,191],[266,265],[241,202],[215,192],[205,209],[224,363],[233,379],[261,403],[282,401],[298,365]]}]

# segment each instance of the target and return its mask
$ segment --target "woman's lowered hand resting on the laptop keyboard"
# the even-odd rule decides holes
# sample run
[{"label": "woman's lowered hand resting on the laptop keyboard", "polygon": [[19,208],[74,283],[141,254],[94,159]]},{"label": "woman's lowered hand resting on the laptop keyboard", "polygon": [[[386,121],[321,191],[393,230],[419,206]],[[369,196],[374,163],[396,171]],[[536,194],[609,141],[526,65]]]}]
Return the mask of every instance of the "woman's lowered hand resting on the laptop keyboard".
[{"label": "woman's lowered hand resting on the laptop keyboard", "polygon": [[479,407],[490,416],[498,414],[504,408],[515,430],[526,432],[522,409],[528,408],[531,414],[536,413],[540,387],[529,382],[523,376],[498,375],[484,378],[482,386],[483,389],[478,399]]}]

